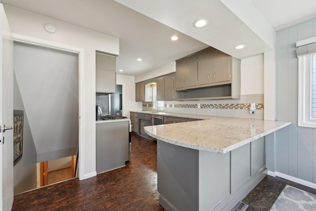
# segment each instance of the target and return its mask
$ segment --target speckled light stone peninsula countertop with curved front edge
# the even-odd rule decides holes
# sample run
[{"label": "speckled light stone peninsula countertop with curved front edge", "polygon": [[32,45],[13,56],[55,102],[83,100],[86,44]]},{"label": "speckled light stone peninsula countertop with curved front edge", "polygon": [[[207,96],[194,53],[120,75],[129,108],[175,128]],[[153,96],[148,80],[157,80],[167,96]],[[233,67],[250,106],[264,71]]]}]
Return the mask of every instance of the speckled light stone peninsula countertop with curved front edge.
[{"label": "speckled light stone peninsula countertop with curved front edge", "polygon": [[206,120],[144,127],[150,136],[191,149],[227,153],[291,122],[212,117]]}]

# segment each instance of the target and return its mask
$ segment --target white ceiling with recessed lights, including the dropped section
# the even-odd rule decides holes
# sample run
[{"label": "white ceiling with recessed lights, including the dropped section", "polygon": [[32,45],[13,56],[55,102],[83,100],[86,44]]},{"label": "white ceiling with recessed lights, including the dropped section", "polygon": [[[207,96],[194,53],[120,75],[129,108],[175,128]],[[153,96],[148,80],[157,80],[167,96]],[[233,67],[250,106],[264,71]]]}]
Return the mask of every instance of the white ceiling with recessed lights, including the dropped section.
[{"label": "white ceiling with recessed lights, including the dropped section", "polygon": [[[258,55],[273,49],[274,30],[316,17],[315,0],[117,1],[121,4],[114,0],[0,0],[119,38],[117,70],[131,76],[209,45],[239,59]],[[194,28],[198,18],[207,19],[208,25]],[[173,35],[179,39],[171,41]],[[233,48],[241,43],[244,49]],[[139,57],[141,62],[136,61]]]}]

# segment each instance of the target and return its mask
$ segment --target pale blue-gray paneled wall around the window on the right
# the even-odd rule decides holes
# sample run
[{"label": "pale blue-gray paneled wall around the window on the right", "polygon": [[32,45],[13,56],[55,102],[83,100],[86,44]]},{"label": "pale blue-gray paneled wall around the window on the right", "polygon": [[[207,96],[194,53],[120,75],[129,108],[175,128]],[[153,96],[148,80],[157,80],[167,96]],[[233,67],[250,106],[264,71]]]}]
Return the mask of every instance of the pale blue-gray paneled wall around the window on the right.
[{"label": "pale blue-gray paneled wall around the window on the right", "polygon": [[276,131],[275,166],[269,166],[273,161],[267,158],[269,170],[313,183],[316,183],[316,128],[297,127],[295,50],[297,41],[315,36],[316,19],[276,32],[276,120],[292,121],[292,125]]}]

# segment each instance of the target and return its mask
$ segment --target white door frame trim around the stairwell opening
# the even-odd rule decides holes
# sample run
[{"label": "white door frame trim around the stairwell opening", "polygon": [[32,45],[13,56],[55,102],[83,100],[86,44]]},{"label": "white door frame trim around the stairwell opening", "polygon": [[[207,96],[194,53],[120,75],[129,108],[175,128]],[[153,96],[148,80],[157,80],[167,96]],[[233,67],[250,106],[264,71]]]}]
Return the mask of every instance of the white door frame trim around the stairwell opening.
[{"label": "white door frame trim around the stairwell opening", "polygon": [[78,60],[79,60],[79,168],[78,168],[78,176],[79,179],[85,179],[84,177],[84,48],[72,46],[72,45],[66,45],[58,42],[50,42],[47,40],[42,40],[38,38],[33,38],[25,35],[20,35],[16,33],[12,33],[13,41],[14,42],[21,42],[26,44],[32,44],[42,47],[48,47],[56,50],[66,51],[66,52],[72,52],[78,54]]}]

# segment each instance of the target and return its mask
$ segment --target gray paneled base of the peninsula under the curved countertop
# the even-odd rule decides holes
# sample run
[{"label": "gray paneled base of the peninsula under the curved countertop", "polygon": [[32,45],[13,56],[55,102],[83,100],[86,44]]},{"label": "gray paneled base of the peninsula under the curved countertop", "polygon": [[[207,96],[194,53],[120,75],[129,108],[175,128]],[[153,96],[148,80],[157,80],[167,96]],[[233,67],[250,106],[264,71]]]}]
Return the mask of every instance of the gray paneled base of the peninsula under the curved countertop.
[{"label": "gray paneled base of the peninsula under the curved countertop", "polygon": [[232,210],[267,174],[265,137],[225,154],[158,140],[159,203],[167,211]]}]

